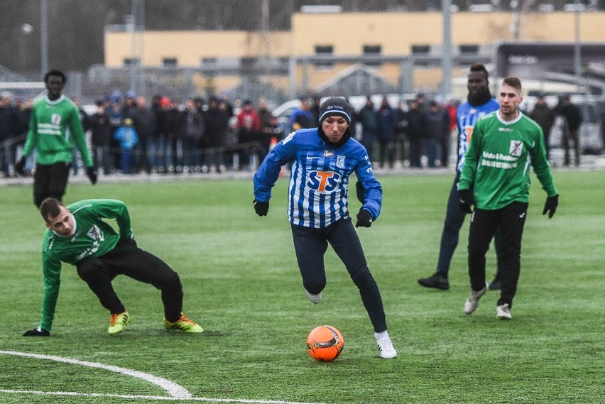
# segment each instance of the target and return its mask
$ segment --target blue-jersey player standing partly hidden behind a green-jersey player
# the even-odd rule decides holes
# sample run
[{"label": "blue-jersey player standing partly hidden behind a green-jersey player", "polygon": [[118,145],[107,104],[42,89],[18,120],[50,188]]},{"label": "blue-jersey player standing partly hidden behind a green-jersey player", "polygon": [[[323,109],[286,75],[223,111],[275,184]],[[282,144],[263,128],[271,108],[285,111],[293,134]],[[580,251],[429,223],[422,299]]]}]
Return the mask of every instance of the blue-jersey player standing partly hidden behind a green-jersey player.
[{"label": "blue-jersey player standing partly hidden behind a green-jersey player", "polygon": [[[460,104],[457,109],[458,163],[456,166],[456,178],[454,178],[454,184],[449,191],[447,199],[447,210],[441,234],[439,258],[437,259],[437,271],[428,278],[418,279],[418,283],[426,288],[449,289],[449,265],[452,262],[454,250],[458,246],[460,228],[464,223],[464,217],[466,217],[466,212],[462,212],[459,206],[457,188],[462,165],[464,164],[464,155],[467,153],[476,121],[490,112],[497,111],[500,107],[496,99],[491,97],[488,77],[488,72],[483,64],[475,63],[471,66],[467,81],[467,89],[469,90],[467,102]],[[499,231],[496,233],[494,242],[496,244],[496,256],[498,256],[498,247],[500,245]],[[499,261],[498,258],[498,266]],[[500,289],[499,272],[496,273],[496,277],[489,284],[490,290]]]}]

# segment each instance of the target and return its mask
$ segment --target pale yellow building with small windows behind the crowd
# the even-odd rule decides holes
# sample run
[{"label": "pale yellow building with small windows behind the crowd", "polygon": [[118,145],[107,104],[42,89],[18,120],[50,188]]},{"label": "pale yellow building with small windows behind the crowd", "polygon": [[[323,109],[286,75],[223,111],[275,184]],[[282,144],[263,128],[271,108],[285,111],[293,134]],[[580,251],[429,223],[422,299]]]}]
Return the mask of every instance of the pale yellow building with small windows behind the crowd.
[{"label": "pale yellow building with small windows behind the crowd", "polygon": [[[452,75],[464,75],[470,61],[492,60],[499,41],[573,43],[575,18],[573,12],[452,13]],[[605,12],[579,13],[579,40],[604,44],[604,21]],[[442,32],[437,12],[295,13],[290,32],[107,31],[105,64],[190,68],[198,89],[210,84],[217,91],[254,74],[289,94],[325,88],[358,66],[396,89],[430,91],[442,81]]]}]

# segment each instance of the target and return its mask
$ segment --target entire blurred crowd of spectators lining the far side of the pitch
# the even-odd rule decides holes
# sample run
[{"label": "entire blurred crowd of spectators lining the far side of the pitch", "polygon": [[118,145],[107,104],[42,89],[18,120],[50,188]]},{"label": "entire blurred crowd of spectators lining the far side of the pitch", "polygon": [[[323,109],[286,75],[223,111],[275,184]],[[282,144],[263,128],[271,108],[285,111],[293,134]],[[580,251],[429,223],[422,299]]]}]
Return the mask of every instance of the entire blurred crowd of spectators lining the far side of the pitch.
[{"label": "entire blurred crowd of spectators lining the far side of the pitch", "polygon": [[[73,100],[89,133],[95,167],[104,175],[255,170],[272,141],[288,134],[280,129],[283,126],[264,99],[256,106],[251,100],[232,104],[227,96],[178,102],[161,95],[147,99],[116,91],[99,99],[92,114],[82,109],[78,99]],[[0,175],[14,173],[32,103],[33,99],[18,94],[1,94]],[[319,97],[303,97],[300,108],[290,116],[289,129],[317,126],[319,104]],[[427,101],[423,94],[396,106],[386,97],[376,106],[367,97],[351,127],[378,168],[447,167],[452,163],[456,109],[454,100],[443,102],[437,97]],[[546,136],[548,131],[550,127],[545,129]],[[77,174],[82,160],[75,153],[72,170]],[[26,172],[32,169],[30,156]]]}]

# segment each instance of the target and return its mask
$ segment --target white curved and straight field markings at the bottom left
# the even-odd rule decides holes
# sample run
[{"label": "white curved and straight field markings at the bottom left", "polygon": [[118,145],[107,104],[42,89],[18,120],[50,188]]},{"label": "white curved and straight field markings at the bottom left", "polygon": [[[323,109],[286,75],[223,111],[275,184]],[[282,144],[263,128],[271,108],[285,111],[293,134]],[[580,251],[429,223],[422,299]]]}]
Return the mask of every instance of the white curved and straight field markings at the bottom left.
[{"label": "white curved and straight field markings at the bottom left", "polygon": [[48,359],[50,361],[64,362],[66,364],[76,364],[89,366],[91,368],[101,368],[108,371],[122,373],[127,376],[141,378],[144,381],[153,383],[160,388],[163,388],[170,395],[123,395],[123,394],[103,394],[103,393],[77,393],[72,391],[30,391],[30,390],[10,390],[0,389],[0,393],[15,393],[15,394],[38,394],[38,395],[57,395],[57,396],[78,396],[78,397],[112,397],[112,398],[127,398],[141,400],[169,400],[169,401],[204,401],[207,403],[244,403],[244,404],[322,404],[322,403],[299,403],[296,401],[280,401],[280,400],[246,400],[246,399],[231,399],[231,398],[202,398],[193,397],[187,389],[179,386],[177,383],[168,381],[165,378],[153,376],[148,373],[133,371],[131,369],[120,368],[118,366],[97,364],[95,362],[78,361],[77,359],[63,358],[61,356],[30,354],[27,352],[18,351],[0,351],[0,354],[13,356],[26,356],[35,359]]}]

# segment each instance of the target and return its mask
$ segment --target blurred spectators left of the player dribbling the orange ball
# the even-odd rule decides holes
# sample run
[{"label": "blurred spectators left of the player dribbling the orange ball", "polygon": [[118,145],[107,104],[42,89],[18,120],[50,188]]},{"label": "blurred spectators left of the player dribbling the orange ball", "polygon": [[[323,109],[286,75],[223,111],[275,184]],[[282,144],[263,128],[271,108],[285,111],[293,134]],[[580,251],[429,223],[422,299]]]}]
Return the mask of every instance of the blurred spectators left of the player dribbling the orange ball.
[{"label": "blurred spectators left of the player dribbling the orange ball", "polygon": [[[276,119],[264,99],[234,106],[227,97],[200,97],[184,103],[133,92],[106,95],[92,114],[80,108],[82,126],[89,133],[94,164],[104,175],[116,173],[221,173],[254,170],[281,138]],[[33,100],[6,93],[0,104],[1,163],[5,176],[21,156]],[[89,111],[90,112],[90,111]],[[75,156],[77,174],[81,159]],[[31,170],[33,161],[26,170]]]}]

